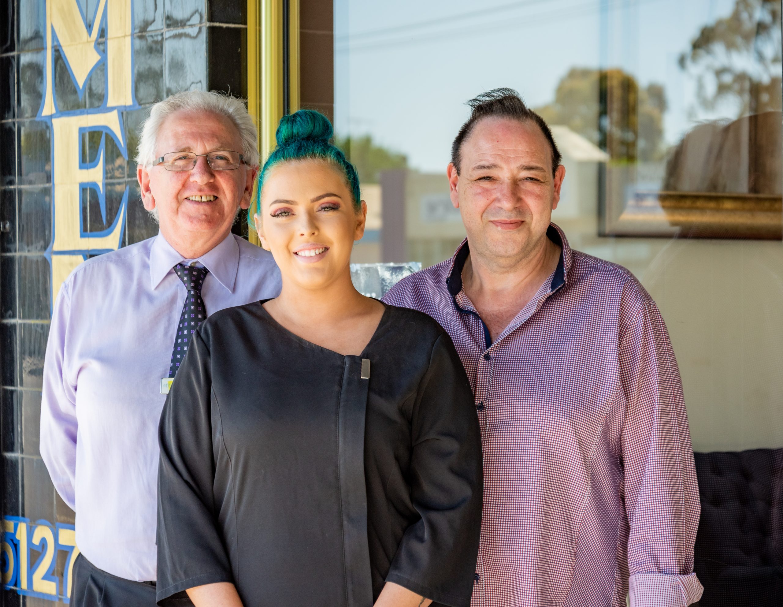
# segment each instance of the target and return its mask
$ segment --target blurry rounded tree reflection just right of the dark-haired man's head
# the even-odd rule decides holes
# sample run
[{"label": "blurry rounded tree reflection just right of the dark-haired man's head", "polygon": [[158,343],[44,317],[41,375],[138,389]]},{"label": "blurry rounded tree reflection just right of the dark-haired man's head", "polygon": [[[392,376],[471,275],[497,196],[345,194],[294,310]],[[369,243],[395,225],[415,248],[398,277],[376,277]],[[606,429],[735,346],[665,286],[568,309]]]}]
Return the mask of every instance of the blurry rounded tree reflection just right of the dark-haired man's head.
[{"label": "blurry rounded tree reflection just right of the dark-haired man's head", "polygon": [[640,86],[620,69],[572,67],[558,83],[554,101],[536,111],[551,125],[583,135],[614,161],[656,161],[665,153],[663,86]]}]

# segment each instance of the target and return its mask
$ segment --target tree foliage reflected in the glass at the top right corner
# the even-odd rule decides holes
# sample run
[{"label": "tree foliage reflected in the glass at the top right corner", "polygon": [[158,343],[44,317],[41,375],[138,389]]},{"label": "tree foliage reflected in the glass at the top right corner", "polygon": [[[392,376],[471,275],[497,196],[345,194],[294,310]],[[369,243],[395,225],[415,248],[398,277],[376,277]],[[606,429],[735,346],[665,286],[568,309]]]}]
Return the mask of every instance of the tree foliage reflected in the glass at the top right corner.
[{"label": "tree foliage reflected in the glass at the top right corner", "polygon": [[738,103],[737,116],[781,110],[780,0],[737,0],[702,27],[680,67],[695,74],[706,110],[726,101]]}]

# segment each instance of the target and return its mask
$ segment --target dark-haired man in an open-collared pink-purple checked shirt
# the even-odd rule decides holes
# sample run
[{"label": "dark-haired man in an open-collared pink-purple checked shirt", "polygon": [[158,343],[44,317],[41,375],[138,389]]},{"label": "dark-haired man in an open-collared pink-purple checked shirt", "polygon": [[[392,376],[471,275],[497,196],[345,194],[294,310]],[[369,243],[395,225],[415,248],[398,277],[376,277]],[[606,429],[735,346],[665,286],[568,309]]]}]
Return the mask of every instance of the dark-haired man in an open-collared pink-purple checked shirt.
[{"label": "dark-haired man in an open-collared pink-purple checked shirt", "polygon": [[468,103],[448,167],[467,239],[384,301],[430,314],[471,379],[484,512],[472,605],[684,607],[699,501],[666,325],[550,222],[565,178],[517,92]]}]

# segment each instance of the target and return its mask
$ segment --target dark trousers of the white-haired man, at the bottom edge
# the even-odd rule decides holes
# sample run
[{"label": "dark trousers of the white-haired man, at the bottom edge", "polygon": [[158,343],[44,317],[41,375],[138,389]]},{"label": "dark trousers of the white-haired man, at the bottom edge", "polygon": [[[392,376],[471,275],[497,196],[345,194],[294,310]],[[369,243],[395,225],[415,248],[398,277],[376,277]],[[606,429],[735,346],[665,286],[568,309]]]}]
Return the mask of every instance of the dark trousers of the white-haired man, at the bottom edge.
[{"label": "dark trousers of the white-haired man, at the bottom edge", "polygon": [[74,562],[71,607],[156,607],[155,583],[133,582],[98,569],[84,555]]}]

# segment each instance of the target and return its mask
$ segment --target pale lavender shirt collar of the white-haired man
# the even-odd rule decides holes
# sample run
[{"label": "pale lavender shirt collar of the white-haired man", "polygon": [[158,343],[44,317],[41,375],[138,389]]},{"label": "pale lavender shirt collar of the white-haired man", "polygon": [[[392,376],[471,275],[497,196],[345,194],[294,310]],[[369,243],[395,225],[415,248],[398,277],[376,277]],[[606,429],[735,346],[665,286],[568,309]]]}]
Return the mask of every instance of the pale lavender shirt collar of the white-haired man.
[{"label": "pale lavender shirt collar of the white-haired man", "polygon": [[[158,232],[150,249],[150,283],[153,289],[161,284],[161,280],[171,272],[171,269],[185,258],[180,255],[163,234]],[[233,233],[228,234],[220,244],[204,253],[195,261],[200,262],[215,280],[233,293],[236,281],[236,271],[240,265],[240,247],[234,240]]]}]

